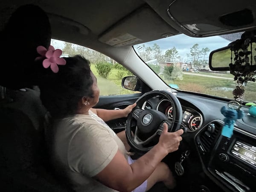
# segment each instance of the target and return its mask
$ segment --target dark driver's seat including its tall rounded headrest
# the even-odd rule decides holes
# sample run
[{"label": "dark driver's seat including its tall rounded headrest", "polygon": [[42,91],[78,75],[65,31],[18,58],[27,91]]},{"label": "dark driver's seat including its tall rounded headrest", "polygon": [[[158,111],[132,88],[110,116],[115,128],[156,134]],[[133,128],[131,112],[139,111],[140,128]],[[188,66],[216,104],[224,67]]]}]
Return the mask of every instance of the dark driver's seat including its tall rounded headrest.
[{"label": "dark driver's seat including its tall rounded headrest", "polygon": [[[18,21],[11,17],[12,25],[7,24],[6,31],[1,33],[1,39],[6,39],[2,43],[23,47],[11,61],[3,58],[9,54],[3,44],[0,52],[3,54],[0,63],[0,189],[5,192],[69,192],[72,190],[52,173],[44,143],[47,110],[41,103],[40,90],[34,86],[36,81],[27,73],[31,66],[26,67],[33,63],[37,54],[31,49],[38,43],[47,46],[44,42],[50,40],[49,34],[39,33],[50,31],[50,25],[44,30],[42,26],[33,26],[37,22],[43,25],[40,14],[45,13],[38,6],[21,6],[15,14]],[[25,23],[22,25],[22,22]],[[13,31],[16,27],[22,27],[17,30],[20,34]]]}]

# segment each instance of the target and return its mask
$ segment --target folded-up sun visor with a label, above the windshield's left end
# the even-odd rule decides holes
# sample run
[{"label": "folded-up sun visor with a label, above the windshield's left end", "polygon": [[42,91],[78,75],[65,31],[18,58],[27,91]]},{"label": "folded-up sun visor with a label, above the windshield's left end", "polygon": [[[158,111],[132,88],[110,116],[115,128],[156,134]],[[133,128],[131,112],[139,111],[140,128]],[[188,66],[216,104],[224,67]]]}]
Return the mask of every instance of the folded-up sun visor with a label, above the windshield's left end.
[{"label": "folded-up sun visor with a label, above the windshield's left end", "polygon": [[177,33],[177,30],[169,26],[150,7],[143,7],[112,26],[99,37],[99,41],[114,47],[122,47],[169,37]]}]

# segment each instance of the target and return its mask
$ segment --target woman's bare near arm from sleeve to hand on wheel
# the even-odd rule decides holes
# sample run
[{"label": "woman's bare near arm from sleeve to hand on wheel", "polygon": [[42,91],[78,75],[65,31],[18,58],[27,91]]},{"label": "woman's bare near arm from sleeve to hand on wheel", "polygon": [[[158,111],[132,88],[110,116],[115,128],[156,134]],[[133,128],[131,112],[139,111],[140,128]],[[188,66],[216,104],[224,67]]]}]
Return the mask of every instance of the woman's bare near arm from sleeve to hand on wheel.
[{"label": "woman's bare near arm from sleeve to hand on wheel", "polygon": [[150,151],[131,165],[124,155],[117,151],[111,162],[94,178],[104,185],[122,192],[130,192],[143,183],[156,169],[160,161],[170,152],[176,151],[183,130],[169,133],[164,125],[160,140]]}]

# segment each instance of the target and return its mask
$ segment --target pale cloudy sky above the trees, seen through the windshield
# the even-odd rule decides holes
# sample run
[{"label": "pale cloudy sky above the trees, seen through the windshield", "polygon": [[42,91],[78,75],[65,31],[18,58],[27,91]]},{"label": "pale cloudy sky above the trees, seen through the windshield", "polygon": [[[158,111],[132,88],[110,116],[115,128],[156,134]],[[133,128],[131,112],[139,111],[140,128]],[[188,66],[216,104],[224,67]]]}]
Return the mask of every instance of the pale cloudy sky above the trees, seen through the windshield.
[{"label": "pale cloudy sky above the trees, seen through the windshield", "polygon": [[[232,41],[235,41],[237,38],[233,37],[231,39]],[[208,47],[211,52],[215,49],[226,47],[230,42],[231,41],[228,41],[227,39],[221,36],[193,38],[184,34],[180,34],[180,35],[175,35],[168,38],[162,38],[156,41],[150,41],[143,44],[145,44],[145,47],[152,47],[156,43],[160,46],[160,49],[163,50],[163,52],[165,52],[168,49],[171,49],[172,47],[176,47],[180,57],[182,58],[182,61],[185,62],[186,54],[190,52],[190,48],[194,44],[198,44],[200,49]],[[138,45],[135,45],[134,47],[136,48],[136,47],[142,46],[143,44],[138,44]],[[208,55],[206,55],[208,58],[209,58],[209,53]]]}]

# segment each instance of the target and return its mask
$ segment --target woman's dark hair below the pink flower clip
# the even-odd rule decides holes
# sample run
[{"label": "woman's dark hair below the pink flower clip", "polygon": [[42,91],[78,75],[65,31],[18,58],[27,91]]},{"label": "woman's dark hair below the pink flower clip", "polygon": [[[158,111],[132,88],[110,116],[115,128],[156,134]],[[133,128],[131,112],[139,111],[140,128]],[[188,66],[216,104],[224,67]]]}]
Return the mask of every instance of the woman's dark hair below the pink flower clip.
[{"label": "woman's dark hair below the pink flower clip", "polygon": [[58,65],[58,73],[36,63],[41,100],[53,118],[75,114],[83,96],[93,97],[90,61],[81,55],[64,59],[66,65]]}]

